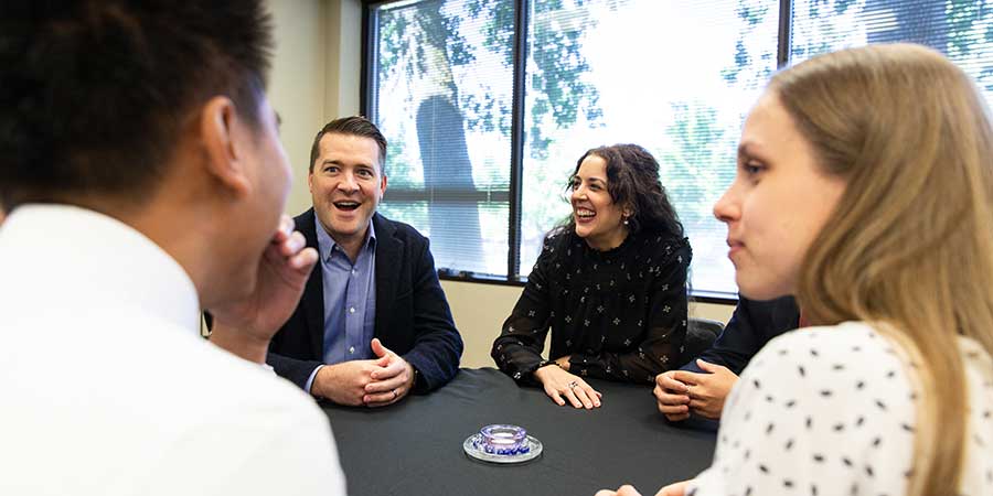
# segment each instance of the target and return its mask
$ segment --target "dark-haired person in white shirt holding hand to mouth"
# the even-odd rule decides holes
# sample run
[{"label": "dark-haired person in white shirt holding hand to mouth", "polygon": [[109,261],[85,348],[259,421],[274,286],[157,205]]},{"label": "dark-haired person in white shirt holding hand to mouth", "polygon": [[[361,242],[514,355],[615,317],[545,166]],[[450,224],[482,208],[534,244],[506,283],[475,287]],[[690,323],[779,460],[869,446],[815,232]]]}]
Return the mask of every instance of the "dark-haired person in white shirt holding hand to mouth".
[{"label": "dark-haired person in white shirt holding hand to mouth", "polygon": [[[263,366],[317,261],[281,216],[269,24],[0,8],[0,494],[344,494],[328,418]],[[242,332],[203,339],[201,309]]]}]

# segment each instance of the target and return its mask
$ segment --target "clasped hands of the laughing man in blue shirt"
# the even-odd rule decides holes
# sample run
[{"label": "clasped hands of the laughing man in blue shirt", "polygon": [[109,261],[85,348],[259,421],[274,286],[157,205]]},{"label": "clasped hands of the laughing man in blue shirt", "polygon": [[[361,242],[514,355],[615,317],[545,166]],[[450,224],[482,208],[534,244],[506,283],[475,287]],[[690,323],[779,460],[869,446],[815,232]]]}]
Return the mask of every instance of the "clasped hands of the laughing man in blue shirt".
[{"label": "clasped hands of the laughing man in blue shirt", "polygon": [[414,366],[391,352],[378,338],[370,343],[376,358],[321,367],[310,392],[338,405],[385,407],[403,399],[414,387]]}]

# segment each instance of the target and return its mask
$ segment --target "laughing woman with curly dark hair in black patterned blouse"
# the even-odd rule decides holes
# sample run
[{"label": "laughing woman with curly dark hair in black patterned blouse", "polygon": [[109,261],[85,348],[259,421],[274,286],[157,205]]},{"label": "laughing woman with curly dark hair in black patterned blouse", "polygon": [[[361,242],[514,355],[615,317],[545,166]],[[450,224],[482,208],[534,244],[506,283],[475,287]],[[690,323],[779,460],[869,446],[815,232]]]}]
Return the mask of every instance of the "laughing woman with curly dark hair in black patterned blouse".
[{"label": "laughing woman with curly dark hair in black patterned blouse", "polygon": [[491,355],[556,403],[589,409],[600,393],[584,377],[651,385],[680,365],[692,251],[643,148],[587,151],[569,188],[573,215],[545,238]]}]

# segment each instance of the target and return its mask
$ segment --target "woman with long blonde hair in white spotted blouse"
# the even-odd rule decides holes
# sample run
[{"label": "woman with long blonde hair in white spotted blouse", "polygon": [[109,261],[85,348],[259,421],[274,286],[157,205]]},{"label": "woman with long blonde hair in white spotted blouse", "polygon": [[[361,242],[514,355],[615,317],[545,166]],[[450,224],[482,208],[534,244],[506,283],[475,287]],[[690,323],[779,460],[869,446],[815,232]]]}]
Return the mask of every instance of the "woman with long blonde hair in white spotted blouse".
[{"label": "woman with long blonde hair in white spotted blouse", "polygon": [[738,150],[714,212],[740,292],[796,294],[814,327],[756,356],[713,466],[659,494],[993,494],[993,128],[972,82],[917,45],[815,57],[772,78]]}]

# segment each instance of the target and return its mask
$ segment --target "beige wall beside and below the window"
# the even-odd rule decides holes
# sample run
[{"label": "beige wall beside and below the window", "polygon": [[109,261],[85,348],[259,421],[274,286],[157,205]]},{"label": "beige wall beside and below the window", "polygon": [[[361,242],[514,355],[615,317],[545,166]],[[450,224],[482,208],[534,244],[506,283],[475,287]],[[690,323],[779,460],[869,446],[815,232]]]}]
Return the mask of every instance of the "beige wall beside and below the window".
[{"label": "beige wall beside and below the window", "polygon": [[[282,142],[293,164],[287,212],[310,206],[307,169],[313,134],[324,122],[359,112],[362,8],[359,0],[270,0],[276,56],[269,98],[282,118]],[[490,345],[521,288],[442,281],[466,342],[462,365],[492,365]],[[727,322],[729,305],[693,304],[690,314]]]}]

